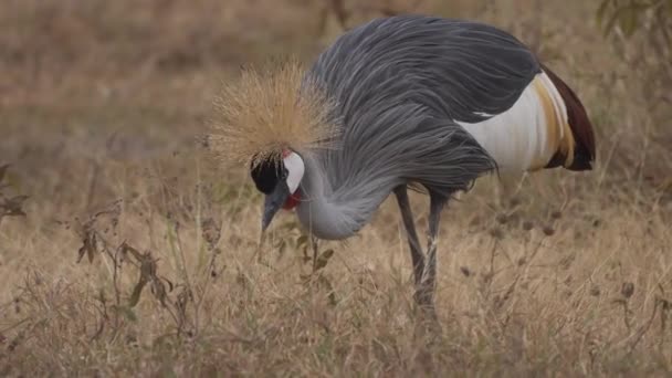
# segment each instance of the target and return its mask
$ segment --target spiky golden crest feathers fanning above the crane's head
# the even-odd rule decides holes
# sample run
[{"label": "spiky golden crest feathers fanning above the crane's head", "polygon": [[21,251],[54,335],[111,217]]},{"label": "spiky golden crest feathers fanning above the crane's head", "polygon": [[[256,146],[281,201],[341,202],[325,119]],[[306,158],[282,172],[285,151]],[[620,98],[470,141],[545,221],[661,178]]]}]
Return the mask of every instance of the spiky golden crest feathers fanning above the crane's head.
[{"label": "spiky golden crest feathers fanning above the crane's head", "polygon": [[210,146],[225,162],[256,165],[285,148],[329,148],[336,136],[328,120],[333,102],[294,60],[244,69],[238,82],[224,84],[214,106]]}]

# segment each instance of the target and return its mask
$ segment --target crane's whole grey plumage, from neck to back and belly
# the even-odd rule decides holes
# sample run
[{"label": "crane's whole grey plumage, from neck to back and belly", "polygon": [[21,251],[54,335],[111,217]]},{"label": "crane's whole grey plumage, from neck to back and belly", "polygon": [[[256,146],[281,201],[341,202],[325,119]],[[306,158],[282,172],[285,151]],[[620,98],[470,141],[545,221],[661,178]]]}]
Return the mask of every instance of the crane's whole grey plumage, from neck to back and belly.
[{"label": "crane's whole grey plumage, from neck to back and belly", "polygon": [[343,134],[339,148],[307,157],[306,175],[322,177],[302,187],[302,222],[344,239],[395,187],[466,189],[495,162],[455,122],[511,107],[538,70],[516,39],[474,22],[406,15],[342,35],[308,72],[335,98]]}]

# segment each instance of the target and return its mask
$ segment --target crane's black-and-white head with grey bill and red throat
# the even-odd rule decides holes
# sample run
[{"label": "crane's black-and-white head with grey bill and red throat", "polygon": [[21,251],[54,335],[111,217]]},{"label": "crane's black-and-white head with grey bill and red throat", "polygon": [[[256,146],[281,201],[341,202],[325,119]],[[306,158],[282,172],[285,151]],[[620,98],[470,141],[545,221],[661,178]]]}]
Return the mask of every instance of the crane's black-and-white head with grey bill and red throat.
[{"label": "crane's black-and-white head with grey bill and red throat", "polygon": [[252,166],[251,176],[254,185],[266,196],[261,222],[262,231],[266,230],[281,208],[290,210],[298,204],[298,186],[304,171],[303,159],[290,149],[282,151],[280,160],[266,159]]}]

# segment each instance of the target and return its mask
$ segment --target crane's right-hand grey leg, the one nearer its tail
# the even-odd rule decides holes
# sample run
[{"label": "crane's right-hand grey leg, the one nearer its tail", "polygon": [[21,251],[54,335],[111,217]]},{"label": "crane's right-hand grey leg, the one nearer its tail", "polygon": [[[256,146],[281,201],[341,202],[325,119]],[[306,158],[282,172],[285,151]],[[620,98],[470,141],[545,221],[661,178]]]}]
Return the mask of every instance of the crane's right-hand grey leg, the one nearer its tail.
[{"label": "crane's right-hand grey leg, the one nearer its tail", "polygon": [[427,242],[427,264],[422,272],[420,286],[416,301],[426,307],[432,317],[435,318],[434,292],[437,291],[437,237],[439,234],[439,223],[441,222],[441,210],[445,204],[445,199],[430,193],[429,208],[429,232]]}]

